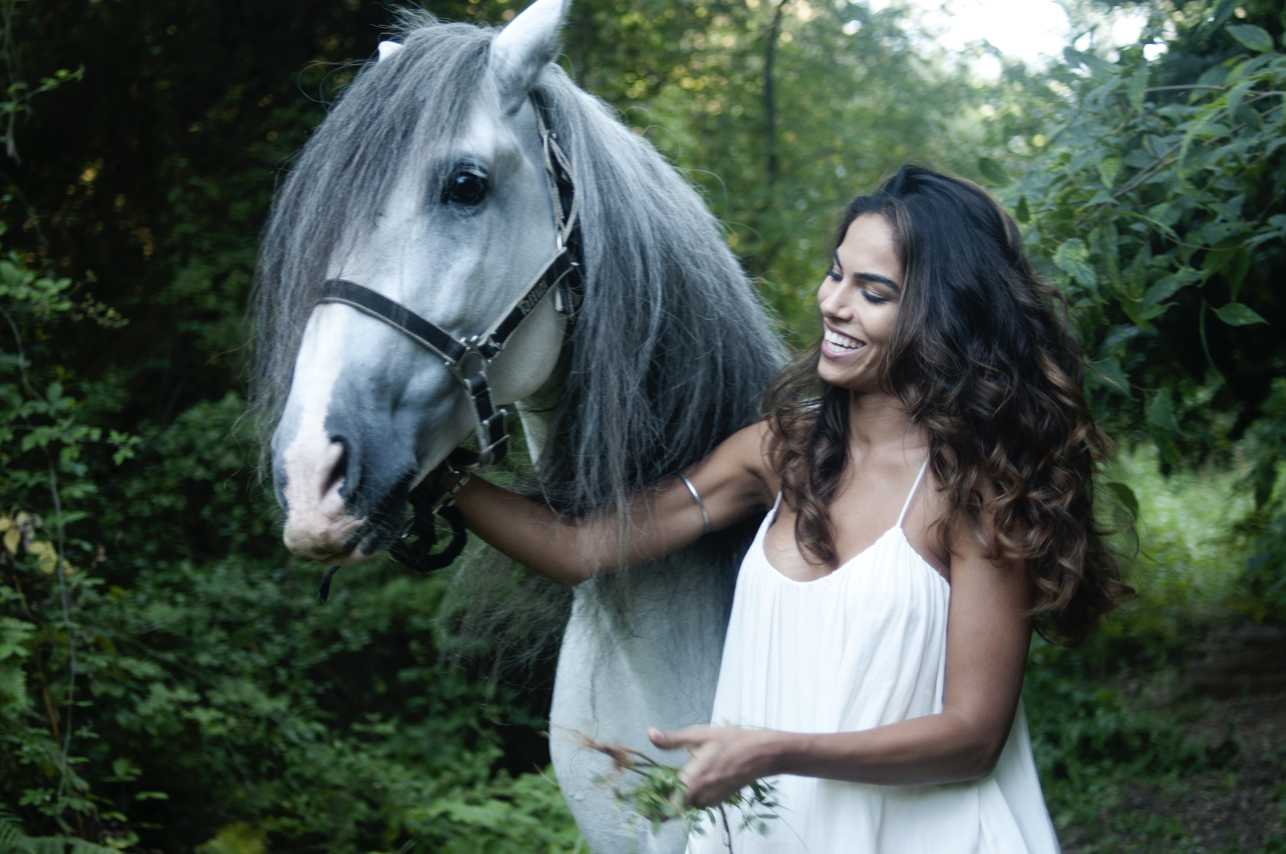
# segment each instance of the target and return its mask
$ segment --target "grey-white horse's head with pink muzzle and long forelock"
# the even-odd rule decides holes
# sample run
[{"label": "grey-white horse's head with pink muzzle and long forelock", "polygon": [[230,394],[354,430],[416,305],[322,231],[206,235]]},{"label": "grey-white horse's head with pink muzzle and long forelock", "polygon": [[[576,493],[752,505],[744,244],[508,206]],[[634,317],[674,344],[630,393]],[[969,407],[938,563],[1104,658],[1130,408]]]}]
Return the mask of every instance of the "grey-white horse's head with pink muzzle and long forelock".
[{"label": "grey-white horse's head with pink muzzle and long forelock", "polygon": [[[410,486],[475,427],[442,359],[316,295],[345,279],[462,341],[504,315],[556,247],[529,95],[557,54],[565,3],[538,0],[494,39],[446,24],[381,45],[278,198],[260,264],[261,307],[276,319],[261,323],[280,338],[291,310],[303,325],[264,370],[283,387],[289,372],[271,463],[300,557],[347,563],[387,548]],[[550,292],[491,363],[496,404],[549,379],[566,324],[553,302]]]}]

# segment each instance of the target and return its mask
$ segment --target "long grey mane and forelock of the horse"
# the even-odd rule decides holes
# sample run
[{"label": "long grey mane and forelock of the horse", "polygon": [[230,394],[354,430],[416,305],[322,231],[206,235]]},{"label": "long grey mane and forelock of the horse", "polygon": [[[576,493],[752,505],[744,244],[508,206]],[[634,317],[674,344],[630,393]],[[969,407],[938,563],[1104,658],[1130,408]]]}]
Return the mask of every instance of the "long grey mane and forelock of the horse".
[{"label": "long grey mane and forelock of the horse", "polygon": [[[257,274],[256,399],[270,421],[332,247],[369,226],[405,158],[464,129],[494,33],[408,13],[404,49],[368,66],[305,148],[274,204]],[[562,69],[548,67],[536,89],[575,172],[585,275],[549,401],[553,428],[526,489],[580,514],[624,507],[754,421],[783,351],[693,188]],[[738,539],[743,530],[706,538],[703,552],[728,579]],[[509,628],[520,631],[561,625],[562,592],[538,579],[514,590],[512,565],[469,563],[457,575],[467,633],[516,616],[522,628]],[[607,598],[622,602],[628,585],[622,574]]]}]

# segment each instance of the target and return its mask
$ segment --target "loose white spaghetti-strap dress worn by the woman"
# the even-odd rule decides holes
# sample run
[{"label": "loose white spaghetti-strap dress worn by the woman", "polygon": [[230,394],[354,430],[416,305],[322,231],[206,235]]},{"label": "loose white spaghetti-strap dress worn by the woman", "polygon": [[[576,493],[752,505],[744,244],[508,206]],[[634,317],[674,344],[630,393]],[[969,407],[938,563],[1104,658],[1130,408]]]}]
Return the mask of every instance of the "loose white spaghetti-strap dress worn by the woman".
[{"label": "loose white spaghetti-strap dress worn by the woman", "polygon": [[[943,709],[950,585],[910,547],[901,522],[867,550],[813,580],[778,572],[764,552],[777,507],[737,577],[714,724],[851,732]],[[777,503],[781,504],[781,496]],[[995,770],[941,786],[873,786],[783,774],[768,835],[739,830],[736,854],[1057,854],[1019,706]],[[729,850],[706,824],[689,854]]]}]

